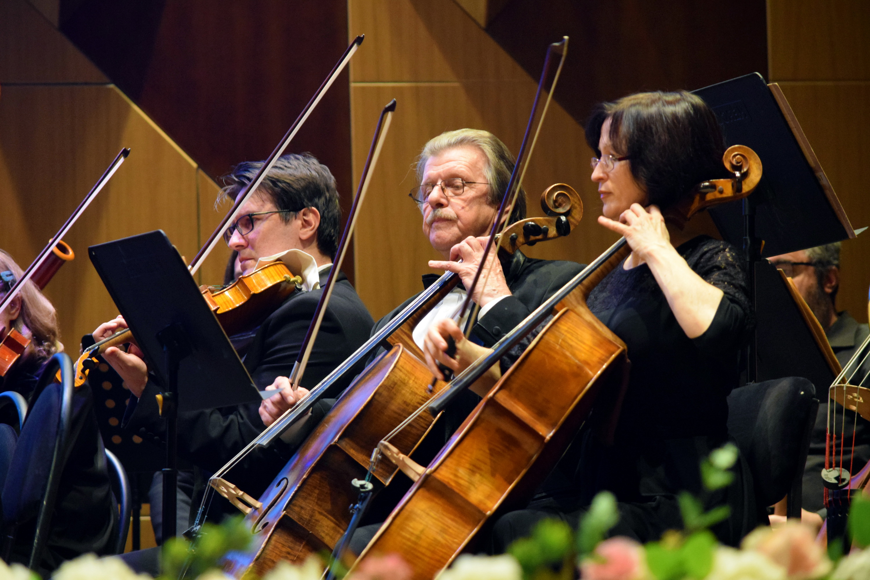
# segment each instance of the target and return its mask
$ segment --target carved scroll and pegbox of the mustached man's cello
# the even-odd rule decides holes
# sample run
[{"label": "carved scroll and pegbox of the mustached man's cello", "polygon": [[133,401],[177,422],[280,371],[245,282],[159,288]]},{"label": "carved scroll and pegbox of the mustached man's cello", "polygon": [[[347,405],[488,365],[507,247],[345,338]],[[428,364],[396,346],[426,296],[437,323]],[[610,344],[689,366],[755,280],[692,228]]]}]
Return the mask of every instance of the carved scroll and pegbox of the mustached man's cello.
[{"label": "carved scroll and pegbox of the mustached man's cello", "polygon": [[577,190],[566,183],[555,183],[544,190],[541,209],[546,217],[529,217],[506,227],[499,234],[499,249],[512,254],[524,245],[567,236],[583,217],[583,201]]}]

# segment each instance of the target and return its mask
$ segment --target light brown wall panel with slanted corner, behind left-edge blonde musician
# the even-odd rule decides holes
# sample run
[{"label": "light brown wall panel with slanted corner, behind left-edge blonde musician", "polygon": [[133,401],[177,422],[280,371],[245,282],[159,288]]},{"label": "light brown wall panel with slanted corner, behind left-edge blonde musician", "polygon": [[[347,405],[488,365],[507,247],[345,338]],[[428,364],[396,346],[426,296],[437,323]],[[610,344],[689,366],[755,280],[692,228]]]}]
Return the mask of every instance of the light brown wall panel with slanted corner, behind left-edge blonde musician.
[{"label": "light brown wall panel with slanted corner, behind left-edge blonde musician", "polygon": [[198,250],[197,166],[113,86],[3,86],[0,247],[23,267],[122,147],[130,157],[64,238],[77,258],[46,288],[72,352],[117,314],[89,245],[162,229],[188,259]]}]

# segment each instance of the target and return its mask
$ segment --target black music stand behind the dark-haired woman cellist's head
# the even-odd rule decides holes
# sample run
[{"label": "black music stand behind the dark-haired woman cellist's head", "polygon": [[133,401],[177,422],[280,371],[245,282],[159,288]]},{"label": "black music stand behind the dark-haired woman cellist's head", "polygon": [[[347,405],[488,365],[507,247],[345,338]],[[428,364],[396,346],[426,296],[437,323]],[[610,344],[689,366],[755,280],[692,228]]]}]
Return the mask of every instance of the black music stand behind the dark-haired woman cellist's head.
[{"label": "black music stand behind the dark-haired woman cellist's head", "polygon": [[[773,276],[775,270],[772,274],[762,257],[855,237],[846,212],[779,85],[768,85],[764,77],[753,73],[693,93],[719,118],[726,144],[751,147],[763,166],[761,181],[751,196],[742,203],[725,203],[710,210],[722,237],[746,252],[753,307],[756,311],[768,308],[782,297],[793,304],[782,281]],[[783,316],[798,312],[786,306],[778,311]],[[746,382],[774,375],[806,376],[813,383],[827,380],[831,370],[824,357],[816,356],[817,352],[807,357],[806,348],[813,344],[803,320],[785,323],[780,317],[759,316],[746,353]],[[777,374],[780,369],[800,369],[806,374]]]}]

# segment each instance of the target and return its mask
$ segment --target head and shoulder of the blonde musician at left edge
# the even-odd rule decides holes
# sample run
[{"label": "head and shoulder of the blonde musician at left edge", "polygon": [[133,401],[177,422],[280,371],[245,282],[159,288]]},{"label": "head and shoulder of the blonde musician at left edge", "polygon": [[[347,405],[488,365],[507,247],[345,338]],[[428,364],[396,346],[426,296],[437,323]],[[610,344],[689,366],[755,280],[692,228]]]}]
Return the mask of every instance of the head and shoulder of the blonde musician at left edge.
[{"label": "head and shoulder of the blonde musician at left edge", "polygon": [[[22,275],[23,271],[9,253],[0,250],[0,299]],[[11,329],[30,339],[30,344],[6,375],[0,377],[0,391],[14,390],[26,398],[37,386],[43,363],[51,355],[64,350],[64,345],[59,342],[60,330],[54,306],[35,283],[28,281],[24,284],[17,297],[0,312],[0,339],[5,338]]]}]

